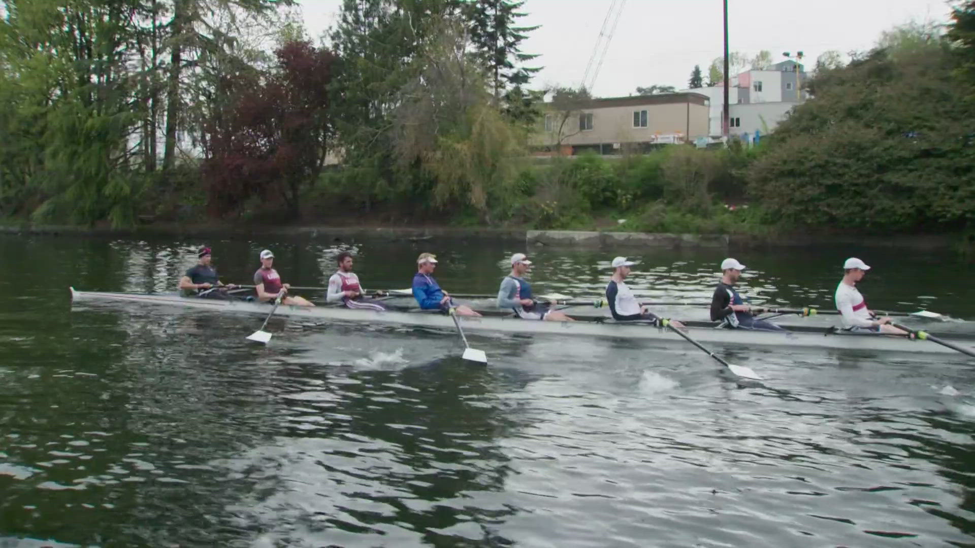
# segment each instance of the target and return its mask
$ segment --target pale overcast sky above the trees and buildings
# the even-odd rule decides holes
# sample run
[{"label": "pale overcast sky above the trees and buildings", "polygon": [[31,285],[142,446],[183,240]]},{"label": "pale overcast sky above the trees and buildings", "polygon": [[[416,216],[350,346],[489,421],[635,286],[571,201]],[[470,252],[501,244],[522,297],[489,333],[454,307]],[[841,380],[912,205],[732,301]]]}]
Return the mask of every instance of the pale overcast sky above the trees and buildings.
[{"label": "pale overcast sky above the trees and buildings", "polygon": [[[299,0],[308,32],[320,36],[341,0]],[[694,64],[707,75],[722,55],[722,0],[615,0],[622,14],[592,88],[599,97],[627,96],[637,86],[687,86]],[[526,26],[541,25],[522,48],[544,67],[532,82],[578,86],[613,0],[526,0]],[[945,22],[945,0],[729,0],[732,52],[802,51],[811,66],[826,50],[869,49],[881,31],[909,20]],[[611,22],[611,21],[610,21]]]}]

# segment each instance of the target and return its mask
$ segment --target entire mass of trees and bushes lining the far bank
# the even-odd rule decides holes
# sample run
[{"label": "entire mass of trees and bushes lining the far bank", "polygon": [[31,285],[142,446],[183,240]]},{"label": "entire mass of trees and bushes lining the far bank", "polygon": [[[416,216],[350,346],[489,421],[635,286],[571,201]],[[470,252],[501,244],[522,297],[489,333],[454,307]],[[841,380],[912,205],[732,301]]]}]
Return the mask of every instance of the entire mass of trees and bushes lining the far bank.
[{"label": "entire mass of trees and bushes lining the far bank", "polygon": [[550,159],[520,2],[344,0],[325,45],[189,4],[0,4],[0,217],[975,232],[975,0],[818,66],[760,146]]}]

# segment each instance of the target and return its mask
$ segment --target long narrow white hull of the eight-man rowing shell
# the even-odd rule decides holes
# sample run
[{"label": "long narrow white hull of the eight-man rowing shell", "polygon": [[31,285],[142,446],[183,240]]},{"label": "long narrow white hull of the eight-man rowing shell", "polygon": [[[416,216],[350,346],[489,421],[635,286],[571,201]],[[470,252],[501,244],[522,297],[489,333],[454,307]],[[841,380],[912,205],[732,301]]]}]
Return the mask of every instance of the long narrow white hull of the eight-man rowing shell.
[{"label": "long narrow white hull of the eight-man rowing shell", "polygon": [[[72,301],[129,301],[139,304],[189,307],[217,312],[262,314],[270,310],[264,303],[216,300],[176,294],[122,294],[79,292],[71,288]],[[378,312],[374,310],[350,310],[331,306],[291,306],[282,304],[277,315],[296,318],[313,318],[348,323],[379,323],[405,325],[454,332],[453,320],[439,312]],[[614,338],[652,339],[684,343],[677,333],[659,330],[645,324],[624,322],[539,322],[514,317],[461,317],[467,332],[561,334],[569,336],[601,336]],[[836,348],[849,350],[875,350],[891,352],[954,353],[954,350],[930,342],[909,340],[905,337],[872,333],[771,333],[717,328],[688,328],[688,333],[701,343],[736,344],[744,346],[795,346],[808,348]]]}]

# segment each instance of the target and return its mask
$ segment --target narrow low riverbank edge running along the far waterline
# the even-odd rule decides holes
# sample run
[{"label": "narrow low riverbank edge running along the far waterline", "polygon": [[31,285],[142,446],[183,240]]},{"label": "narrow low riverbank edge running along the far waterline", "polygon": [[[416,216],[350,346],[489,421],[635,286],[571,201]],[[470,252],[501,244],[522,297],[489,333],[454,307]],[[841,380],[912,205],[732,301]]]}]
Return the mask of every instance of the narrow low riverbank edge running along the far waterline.
[{"label": "narrow low riverbank edge running along the far waterline", "polygon": [[255,226],[242,224],[151,224],[133,228],[89,227],[77,225],[6,224],[0,233],[93,238],[222,238],[254,239],[266,236],[331,242],[386,240],[422,242],[425,240],[496,240],[524,242],[527,247],[571,247],[582,249],[751,249],[763,247],[813,247],[844,245],[857,248],[898,248],[907,250],[957,251],[964,240],[959,234],[906,236],[837,236],[780,233],[768,236],[741,234],[669,234],[622,232],[614,230],[527,230],[522,228],[449,226]]}]

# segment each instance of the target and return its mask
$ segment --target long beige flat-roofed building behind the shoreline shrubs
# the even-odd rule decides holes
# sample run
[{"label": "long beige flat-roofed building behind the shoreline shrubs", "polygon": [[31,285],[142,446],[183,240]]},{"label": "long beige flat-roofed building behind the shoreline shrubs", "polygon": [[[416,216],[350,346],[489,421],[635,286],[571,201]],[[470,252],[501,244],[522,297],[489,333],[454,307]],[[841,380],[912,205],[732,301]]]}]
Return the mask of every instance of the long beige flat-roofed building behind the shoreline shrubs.
[{"label": "long beige flat-roofed building behind the shoreline shrubs", "polygon": [[595,98],[571,111],[545,105],[530,144],[540,155],[619,154],[708,137],[710,99],[697,93]]}]

